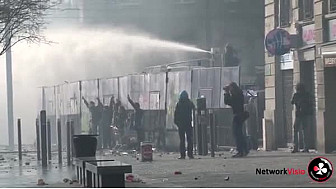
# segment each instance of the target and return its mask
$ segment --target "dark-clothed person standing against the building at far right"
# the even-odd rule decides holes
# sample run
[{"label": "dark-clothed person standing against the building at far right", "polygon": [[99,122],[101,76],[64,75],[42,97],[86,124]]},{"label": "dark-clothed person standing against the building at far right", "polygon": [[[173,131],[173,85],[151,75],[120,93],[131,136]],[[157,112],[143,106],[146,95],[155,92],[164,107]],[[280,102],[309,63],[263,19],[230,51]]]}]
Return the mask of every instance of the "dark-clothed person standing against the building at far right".
[{"label": "dark-clothed person standing against the building at far right", "polygon": [[303,135],[303,151],[309,152],[308,150],[308,137],[307,130],[309,125],[309,116],[313,114],[313,103],[311,95],[306,92],[304,85],[298,83],[296,85],[296,93],[294,93],[291,103],[295,105],[295,121],[294,121],[294,149],[292,153],[298,152],[299,142],[298,133],[301,132]]}]

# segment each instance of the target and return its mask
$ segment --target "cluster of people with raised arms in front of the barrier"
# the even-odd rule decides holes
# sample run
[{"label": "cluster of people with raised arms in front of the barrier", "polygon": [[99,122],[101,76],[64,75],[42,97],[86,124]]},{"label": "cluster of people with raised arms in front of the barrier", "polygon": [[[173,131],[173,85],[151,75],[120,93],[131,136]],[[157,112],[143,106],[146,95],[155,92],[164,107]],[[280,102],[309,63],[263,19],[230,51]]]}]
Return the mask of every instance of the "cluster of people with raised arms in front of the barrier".
[{"label": "cluster of people with raised arms in front of the barrier", "polygon": [[91,114],[89,133],[98,135],[98,149],[112,149],[117,144],[131,145],[131,138],[126,135],[126,130],[129,129],[136,131],[138,145],[135,148],[139,149],[144,140],[143,110],[139,103],[133,102],[128,95],[127,99],[134,108],[134,114],[128,114],[125,106],[119,99],[115,100],[114,96],[105,106],[99,98],[97,105],[93,101],[88,102],[84,97],[82,99]]}]

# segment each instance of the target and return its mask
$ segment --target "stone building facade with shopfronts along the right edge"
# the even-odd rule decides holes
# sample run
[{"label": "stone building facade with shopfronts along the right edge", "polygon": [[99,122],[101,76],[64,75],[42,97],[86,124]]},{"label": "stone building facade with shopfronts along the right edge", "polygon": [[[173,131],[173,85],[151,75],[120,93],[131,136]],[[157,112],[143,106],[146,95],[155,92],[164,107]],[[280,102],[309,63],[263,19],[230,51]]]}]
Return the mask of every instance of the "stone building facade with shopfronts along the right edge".
[{"label": "stone building facade with shopfronts along the right edge", "polygon": [[275,28],[297,36],[296,48],[283,56],[265,50],[264,147],[287,147],[293,141],[295,110],[290,104],[302,82],[314,96],[309,147],[336,150],[336,1],[265,0],[265,35]]}]

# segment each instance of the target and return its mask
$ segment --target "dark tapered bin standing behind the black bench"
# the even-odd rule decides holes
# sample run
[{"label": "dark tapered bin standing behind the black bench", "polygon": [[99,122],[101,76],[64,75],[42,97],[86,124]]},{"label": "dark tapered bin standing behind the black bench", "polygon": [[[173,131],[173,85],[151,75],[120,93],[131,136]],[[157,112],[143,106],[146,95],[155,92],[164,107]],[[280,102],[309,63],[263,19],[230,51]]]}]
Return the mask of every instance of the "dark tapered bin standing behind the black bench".
[{"label": "dark tapered bin standing behind the black bench", "polygon": [[73,147],[75,157],[92,157],[96,156],[97,137],[98,135],[74,135]]}]

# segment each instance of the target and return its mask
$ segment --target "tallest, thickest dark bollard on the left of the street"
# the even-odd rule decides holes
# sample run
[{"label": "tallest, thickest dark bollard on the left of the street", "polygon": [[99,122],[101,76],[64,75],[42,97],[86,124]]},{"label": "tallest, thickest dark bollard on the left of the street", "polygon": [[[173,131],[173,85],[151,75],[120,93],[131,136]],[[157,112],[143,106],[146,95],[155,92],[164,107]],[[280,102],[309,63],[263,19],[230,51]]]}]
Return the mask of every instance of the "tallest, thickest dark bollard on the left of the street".
[{"label": "tallest, thickest dark bollard on the left of the street", "polygon": [[46,111],[42,110],[41,119],[41,151],[42,151],[42,167],[48,166],[48,156],[47,156],[47,120]]}]

